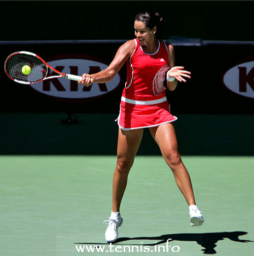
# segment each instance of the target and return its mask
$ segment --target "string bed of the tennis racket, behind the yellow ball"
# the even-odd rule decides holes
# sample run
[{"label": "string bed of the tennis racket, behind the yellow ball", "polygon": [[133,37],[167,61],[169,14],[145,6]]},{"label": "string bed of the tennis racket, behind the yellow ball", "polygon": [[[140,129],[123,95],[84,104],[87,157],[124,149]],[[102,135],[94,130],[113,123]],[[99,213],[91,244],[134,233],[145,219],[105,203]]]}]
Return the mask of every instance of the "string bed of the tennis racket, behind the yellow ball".
[{"label": "string bed of the tennis racket, behind the yellow ball", "polygon": [[[22,73],[24,65],[31,67],[29,74]],[[47,67],[33,55],[15,54],[6,62],[6,72],[14,80],[33,83],[42,80],[47,75]]]}]

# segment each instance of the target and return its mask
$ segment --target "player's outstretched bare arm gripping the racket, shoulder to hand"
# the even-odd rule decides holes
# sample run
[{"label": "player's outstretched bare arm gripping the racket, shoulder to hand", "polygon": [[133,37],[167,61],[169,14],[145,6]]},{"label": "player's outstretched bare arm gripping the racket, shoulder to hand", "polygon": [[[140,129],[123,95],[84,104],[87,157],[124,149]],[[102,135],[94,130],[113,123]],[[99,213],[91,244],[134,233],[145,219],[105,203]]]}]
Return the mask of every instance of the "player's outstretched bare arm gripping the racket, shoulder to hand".
[{"label": "player's outstretched bare arm gripping the racket, shoulder to hand", "polygon": [[130,58],[135,49],[134,40],[127,41],[117,51],[117,54],[109,66],[95,74],[83,74],[78,84],[90,86],[92,83],[107,83],[119,72],[124,63]]}]

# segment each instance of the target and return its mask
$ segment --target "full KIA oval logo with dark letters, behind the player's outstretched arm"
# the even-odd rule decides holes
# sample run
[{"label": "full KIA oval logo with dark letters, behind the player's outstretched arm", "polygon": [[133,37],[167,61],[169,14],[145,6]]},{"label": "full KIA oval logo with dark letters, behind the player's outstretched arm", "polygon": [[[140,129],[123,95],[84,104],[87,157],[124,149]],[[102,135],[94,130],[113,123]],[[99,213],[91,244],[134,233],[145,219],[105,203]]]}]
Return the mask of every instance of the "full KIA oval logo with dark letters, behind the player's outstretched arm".
[{"label": "full KIA oval logo with dark letters, behind the player's outstretched arm", "polygon": [[[108,66],[98,61],[84,59],[60,59],[49,61],[48,64],[63,73],[82,75],[83,73],[97,73]],[[55,74],[51,69],[48,76]],[[59,78],[49,79],[37,84],[30,85],[33,89],[59,98],[92,98],[109,93],[116,89],[120,84],[120,75],[104,84],[94,83],[92,86],[85,87],[77,84],[76,81]]]}]

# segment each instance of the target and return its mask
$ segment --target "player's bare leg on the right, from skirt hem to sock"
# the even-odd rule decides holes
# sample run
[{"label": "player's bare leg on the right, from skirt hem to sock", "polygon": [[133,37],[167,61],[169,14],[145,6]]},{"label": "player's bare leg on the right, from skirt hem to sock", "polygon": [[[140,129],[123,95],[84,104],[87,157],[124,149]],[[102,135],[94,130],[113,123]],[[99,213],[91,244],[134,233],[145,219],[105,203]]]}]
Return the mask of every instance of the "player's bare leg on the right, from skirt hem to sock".
[{"label": "player's bare leg on the right, from skirt hem to sock", "polygon": [[183,193],[188,205],[195,204],[189,173],[184,166],[172,123],[165,123],[150,128],[150,133],[160,147],[163,158],[172,169],[177,186]]}]

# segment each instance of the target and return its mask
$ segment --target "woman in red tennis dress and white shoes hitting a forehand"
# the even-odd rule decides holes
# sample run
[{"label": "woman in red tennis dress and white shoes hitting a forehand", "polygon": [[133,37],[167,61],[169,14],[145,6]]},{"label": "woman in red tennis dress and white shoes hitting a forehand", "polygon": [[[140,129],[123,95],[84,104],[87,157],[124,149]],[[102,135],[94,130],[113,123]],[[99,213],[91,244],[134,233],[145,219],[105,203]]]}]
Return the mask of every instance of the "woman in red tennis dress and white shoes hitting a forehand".
[{"label": "woman in red tennis dress and white shoes hitting a forehand", "polygon": [[173,121],[165,97],[166,87],[175,90],[178,82],[190,79],[190,72],[175,66],[174,48],[160,40],[162,17],[158,13],[138,13],[134,21],[135,39],[127,41],[118,49],[110,65],[94,74],[83,74],[78,83],[90,86],[106,83],[114,78],[127,62],[127,82],[123,90],[118,117],[119,137],[117,166],[113,178],[112,212],[105,238],[114,242],[118,238],[118,227],[122,225],[120,204],[127,185],[127,178],[134,157],[142,140],[143,129],[148,127],[157,142],[162,156],[174,173],[176,183],[185,197],[192,226],[202,225],[204,218],[196,206],[189,173],[184,166],[176,139]]}]

